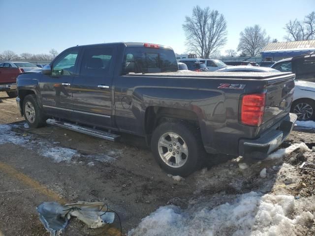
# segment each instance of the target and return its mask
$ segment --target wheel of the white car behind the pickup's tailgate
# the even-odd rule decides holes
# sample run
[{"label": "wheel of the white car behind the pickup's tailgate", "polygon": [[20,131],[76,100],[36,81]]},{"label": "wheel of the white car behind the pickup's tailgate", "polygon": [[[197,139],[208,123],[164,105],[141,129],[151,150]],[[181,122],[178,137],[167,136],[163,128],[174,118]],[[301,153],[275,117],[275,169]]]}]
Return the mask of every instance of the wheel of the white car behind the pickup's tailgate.
[{"label": "wheel of the white car behind the pickup's tailgate", "polygon": [[308,98],[298,99],[292,103],[291,112],[297,115],[298,120],[314,120],[315,101]]}]

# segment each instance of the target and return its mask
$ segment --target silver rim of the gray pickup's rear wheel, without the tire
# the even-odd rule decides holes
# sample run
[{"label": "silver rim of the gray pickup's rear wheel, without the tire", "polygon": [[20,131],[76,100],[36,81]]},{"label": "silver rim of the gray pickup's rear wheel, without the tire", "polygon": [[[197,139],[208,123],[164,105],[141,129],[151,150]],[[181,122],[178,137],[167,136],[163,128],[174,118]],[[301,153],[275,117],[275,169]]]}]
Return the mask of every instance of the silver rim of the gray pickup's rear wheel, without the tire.
[{"label": "silver rim of the gray pickup's rear wheel, without the tire", "polygon": [[159,138],[158,153],[163,162],[173,168],[182,167],[188,159],[185,140],[173,132],[167,132]]}]

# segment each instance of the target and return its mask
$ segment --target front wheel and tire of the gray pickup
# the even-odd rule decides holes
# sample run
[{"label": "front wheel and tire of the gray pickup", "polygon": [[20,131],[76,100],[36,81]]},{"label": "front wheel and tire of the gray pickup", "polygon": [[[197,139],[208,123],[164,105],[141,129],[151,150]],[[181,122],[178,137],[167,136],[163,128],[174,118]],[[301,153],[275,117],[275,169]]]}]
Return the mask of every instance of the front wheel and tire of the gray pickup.
[{"label": "front wheel and tire of the gray pickup", "polygon": [[24,98],[23,113],[26,122],[31,128],[42,127],[46,124],[45,115],[37,104],[35,94],[27,95]]}]

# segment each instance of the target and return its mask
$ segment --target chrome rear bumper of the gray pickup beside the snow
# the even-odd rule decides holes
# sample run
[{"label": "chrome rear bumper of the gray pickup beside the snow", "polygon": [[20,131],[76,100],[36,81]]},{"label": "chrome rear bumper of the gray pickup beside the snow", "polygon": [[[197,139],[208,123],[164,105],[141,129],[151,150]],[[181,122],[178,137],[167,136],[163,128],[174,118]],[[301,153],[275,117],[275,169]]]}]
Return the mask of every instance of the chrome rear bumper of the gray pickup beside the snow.
[{"label": "chrome rear bumper of the gray pickup beside the snow", "polygon": [[297,116],[287,114],[270,130],[263,133],[260,138],[254,140],[241,139],[239,142],[239,154],[255,159],[264,159],[270,152],[278,148],[294,127]]}]

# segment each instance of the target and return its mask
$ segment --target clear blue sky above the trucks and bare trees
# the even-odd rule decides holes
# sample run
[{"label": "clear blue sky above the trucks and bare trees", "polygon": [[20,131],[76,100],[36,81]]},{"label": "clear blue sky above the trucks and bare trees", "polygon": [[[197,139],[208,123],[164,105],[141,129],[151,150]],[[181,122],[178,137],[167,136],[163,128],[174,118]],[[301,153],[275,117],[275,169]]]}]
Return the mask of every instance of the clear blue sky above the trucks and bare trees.
[{"label": "clear blue sky above the trucks and bare trees", "polygon": [[315,0],[0,0],[0,53],[118,41],[158,43],[183,53],[182,24],[196,4],[224,15],[228,41],[222,52],[236,49],[239,33],[254,24],[282,41],[285,23],[315,10]]}]

